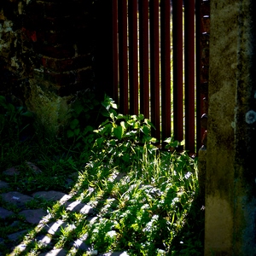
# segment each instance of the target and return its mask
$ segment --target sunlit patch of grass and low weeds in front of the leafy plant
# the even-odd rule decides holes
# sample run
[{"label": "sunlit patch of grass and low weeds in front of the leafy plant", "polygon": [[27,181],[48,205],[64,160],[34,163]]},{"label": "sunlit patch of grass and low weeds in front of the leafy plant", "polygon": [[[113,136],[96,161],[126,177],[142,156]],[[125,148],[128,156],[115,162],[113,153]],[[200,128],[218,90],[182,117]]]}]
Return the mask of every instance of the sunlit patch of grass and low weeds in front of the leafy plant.
[{"label": "sunlit patch of grass and low weeds in front of the leafy plant", "polygon": [[[114,179],[118,176],[122,178]],[[130,166],[90,164],[80,179],[83,200],[101,201],[96,223],[86,229],[88,242],[97,250],[125,250],[129,255],[175,252],[173,241],[183,231],[198,191],[195,162],[188,154],[148,154],[144,147]],[[183,247],[194,244],[182,242]],[[201,250],[202,244],[197,246]]]}]

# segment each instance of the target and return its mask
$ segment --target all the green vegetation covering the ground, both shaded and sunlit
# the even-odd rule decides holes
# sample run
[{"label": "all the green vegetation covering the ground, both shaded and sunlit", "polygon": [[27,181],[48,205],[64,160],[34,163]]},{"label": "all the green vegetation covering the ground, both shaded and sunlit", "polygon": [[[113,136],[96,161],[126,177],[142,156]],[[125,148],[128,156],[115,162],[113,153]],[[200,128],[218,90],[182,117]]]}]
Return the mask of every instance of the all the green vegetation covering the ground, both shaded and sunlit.
[{"label": "all the green vegetation covering the ground, both shaded and sunlit", "polygon": [[[90,94],[74,104],[72,116],[66,136],[44,137],[33,125],[32,113],[0,97],[0,180],[27,195],[50,189],[70,193],[96,210],[96,217],[88,219],[58,203],[28,205],[43,207],[53,218],[67,222],[55,238],[55,247],[86,237],[86,244],[99,253],[202,255],[196,160],[186,152],[160,151],[150,136],[154,125],[143,114],[118,113],[108,96],[100,103]],[[103,121],[97,126],[91,119]],[[172,138],[166,143],[166,148],[178,144]],[[19,174],[4,175],[12,166]],[[67,183],[75,173],[75,182]],[[76,228],[70,229],[72,225]],[[0,236],[9,230],[3,225]],[[26,239],[35,236],[32,229]],[[39,253],[44,248],[33,242],[27,250]]]}]

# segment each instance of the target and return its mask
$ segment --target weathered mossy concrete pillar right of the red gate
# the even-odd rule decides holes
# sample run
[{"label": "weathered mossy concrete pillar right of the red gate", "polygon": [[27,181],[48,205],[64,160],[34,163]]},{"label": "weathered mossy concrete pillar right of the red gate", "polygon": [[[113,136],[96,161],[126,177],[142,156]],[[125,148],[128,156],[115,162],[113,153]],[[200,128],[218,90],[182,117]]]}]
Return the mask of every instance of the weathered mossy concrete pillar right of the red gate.
[{"label": "weathered mossy concrete pillar right of the red gate", "polygon": [[205,255],[256,255],[255,11],[211,0]]}]

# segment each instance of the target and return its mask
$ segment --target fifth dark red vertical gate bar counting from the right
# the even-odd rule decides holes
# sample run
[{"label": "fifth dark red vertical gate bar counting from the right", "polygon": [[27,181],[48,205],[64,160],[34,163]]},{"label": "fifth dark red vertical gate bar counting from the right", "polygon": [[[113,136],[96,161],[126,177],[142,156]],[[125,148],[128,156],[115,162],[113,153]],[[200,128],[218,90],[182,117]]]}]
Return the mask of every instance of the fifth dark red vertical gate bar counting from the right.
[{"label": "fifth dark red vertical gate bar counting from the right", "polygon": [[139,3],[140,112],[149,119],[148,0]]}]

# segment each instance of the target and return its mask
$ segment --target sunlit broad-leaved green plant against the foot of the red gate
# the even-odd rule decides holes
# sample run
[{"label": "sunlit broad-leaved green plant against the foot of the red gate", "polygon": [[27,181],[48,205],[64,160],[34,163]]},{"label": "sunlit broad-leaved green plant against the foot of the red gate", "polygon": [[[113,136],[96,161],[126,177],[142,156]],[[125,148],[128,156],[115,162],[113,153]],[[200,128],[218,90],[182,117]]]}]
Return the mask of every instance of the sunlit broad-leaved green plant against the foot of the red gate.
[{"label": "sunlit broad-leaved green plant against the foot of the red gate", "polygon": [[147,147],[150,152],[156,150],[156,139],[150,135],[154,125],[148,119],[144,119],[143,114],[124,115],[117,113],[110,106],[115,107],[110,104],[105,106],[108,110],[108,119],[94,130],[98,137],[92,151],[96,152],[97,157],[110,157],[111,161],[128,162],[131,155],[141,154],[143,147]]}]

